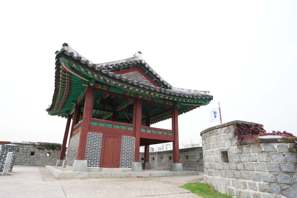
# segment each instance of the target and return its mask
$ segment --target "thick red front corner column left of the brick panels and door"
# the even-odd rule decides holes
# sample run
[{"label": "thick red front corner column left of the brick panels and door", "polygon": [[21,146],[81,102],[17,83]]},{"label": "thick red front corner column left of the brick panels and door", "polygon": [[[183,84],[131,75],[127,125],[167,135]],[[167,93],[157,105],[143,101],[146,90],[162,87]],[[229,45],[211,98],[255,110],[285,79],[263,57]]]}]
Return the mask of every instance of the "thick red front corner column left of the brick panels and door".
[{"label": "thick red front corner column left of the brick panels and door", "polygon": [[88,87],[86,91],[86,99],[83,107],[83,120],[80,131],[80,140],[78,145],[77,160],[84,160],[86,155],[87,137],[89,131],[89,125],[91,123],[93,105],[94,105],[95,90],[92,87]]}]

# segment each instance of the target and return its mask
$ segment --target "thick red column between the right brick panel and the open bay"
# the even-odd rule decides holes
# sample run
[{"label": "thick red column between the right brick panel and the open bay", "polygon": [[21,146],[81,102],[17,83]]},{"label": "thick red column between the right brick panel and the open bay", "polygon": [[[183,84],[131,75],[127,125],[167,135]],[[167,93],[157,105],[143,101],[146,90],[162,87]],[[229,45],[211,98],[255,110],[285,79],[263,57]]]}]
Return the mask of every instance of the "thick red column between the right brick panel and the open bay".
[{"label": "thick red column between the right brick panel and the open bay", "polygon": [[135,125],[135,153],[134,162],[139,162],[140,129],[141,129],[141,107],[142,101],[134,99],[133,124]]}]

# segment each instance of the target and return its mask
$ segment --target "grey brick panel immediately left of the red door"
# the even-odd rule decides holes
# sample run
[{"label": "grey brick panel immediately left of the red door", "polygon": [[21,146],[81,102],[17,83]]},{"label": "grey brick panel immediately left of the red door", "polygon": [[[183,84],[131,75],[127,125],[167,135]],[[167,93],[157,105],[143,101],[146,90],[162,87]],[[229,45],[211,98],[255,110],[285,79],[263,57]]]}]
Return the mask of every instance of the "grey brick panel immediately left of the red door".
[{"label": "grey brick panel immediately left of the red door", "polygon": [[88,167],[99,167],[102,147],[102,133],[88,132],[86,156]]}]

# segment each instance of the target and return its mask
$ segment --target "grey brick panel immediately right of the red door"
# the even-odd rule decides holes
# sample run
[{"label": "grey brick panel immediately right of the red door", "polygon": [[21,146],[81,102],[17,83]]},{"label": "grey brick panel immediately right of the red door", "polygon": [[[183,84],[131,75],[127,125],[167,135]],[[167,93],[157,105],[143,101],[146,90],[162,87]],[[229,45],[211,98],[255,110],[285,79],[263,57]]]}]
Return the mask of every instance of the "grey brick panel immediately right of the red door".
[{"label": "grey brick panel immediately right of the red door", "polygon": [[121,145],[121,168],[132,168],[134,161],[135,137],[122,136]]}]

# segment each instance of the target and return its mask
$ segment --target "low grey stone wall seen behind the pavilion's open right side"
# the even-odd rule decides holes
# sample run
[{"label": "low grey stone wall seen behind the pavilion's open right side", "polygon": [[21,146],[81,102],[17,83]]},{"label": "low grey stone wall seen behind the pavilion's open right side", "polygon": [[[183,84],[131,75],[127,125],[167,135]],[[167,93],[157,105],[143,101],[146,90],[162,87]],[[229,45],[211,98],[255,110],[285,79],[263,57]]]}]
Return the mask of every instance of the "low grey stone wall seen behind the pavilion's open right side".
[{"label": "low grey stone wall seen behind the pavilion's open right side", "polygon": [[[171,159],[170,159],[171,157]],[[140,153],[140,162],[144,158],[144,153]],[[201,147],[179,149],[180,163],[184,170],[203,172],[203,154]],[[158,151],[149,153],[149,162],[152,169],[169,170],[173,162],[172,151]]]}]

